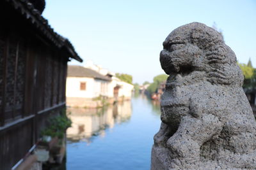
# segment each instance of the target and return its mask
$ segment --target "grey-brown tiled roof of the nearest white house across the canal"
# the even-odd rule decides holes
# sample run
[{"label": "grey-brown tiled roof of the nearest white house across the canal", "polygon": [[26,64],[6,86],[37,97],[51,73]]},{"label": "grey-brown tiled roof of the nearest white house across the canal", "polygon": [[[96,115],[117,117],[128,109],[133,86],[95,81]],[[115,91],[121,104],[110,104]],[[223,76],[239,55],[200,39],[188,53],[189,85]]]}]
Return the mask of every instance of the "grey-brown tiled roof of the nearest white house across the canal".
[{"label": "grey-brown tiled roof of the nearest white house across the canal", "polygon": [[107,76],[103,76],[102,74],[94,71],[92,69],[88,69],[83,66],[68,66],[68,74],[67,76],[75,76],[75,77],[92,77],[100,80],[111,81],[111,78]]}]

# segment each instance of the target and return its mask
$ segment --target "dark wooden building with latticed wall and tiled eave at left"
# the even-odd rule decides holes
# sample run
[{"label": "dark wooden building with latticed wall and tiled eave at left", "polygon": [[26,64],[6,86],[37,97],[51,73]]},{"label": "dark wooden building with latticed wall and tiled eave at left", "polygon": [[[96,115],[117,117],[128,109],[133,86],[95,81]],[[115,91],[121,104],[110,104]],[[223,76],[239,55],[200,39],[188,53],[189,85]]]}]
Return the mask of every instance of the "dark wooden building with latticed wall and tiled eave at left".
[{"label": "dark wooden building with latticed wall and tiled eave at left", "polygon": [[27,0],[1,0],[0,21],[0,169],[11,169],[65,109],[67,62],[82,59]]}]

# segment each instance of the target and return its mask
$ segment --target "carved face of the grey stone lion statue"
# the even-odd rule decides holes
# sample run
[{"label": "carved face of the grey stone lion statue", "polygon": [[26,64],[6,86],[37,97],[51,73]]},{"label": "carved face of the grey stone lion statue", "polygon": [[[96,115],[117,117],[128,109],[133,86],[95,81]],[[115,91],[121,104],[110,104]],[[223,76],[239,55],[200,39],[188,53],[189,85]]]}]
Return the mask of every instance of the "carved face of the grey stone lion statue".
[{"label": "carved face of the grey stone lion statue", "polygon": [[194,63],[202,55],[202,50],[191,43],[189,34],[179,34],[175,29],[163,42],[164,49],[160,53],[161,66],[166,74],[186,74],[193,71]]}]

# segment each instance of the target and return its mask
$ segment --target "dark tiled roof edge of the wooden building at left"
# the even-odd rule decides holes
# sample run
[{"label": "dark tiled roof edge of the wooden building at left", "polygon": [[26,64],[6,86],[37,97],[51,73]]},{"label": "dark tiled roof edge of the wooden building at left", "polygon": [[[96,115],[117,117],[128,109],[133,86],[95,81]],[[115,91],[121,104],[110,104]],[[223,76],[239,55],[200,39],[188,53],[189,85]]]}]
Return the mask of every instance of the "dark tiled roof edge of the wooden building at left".
[{"label": "dark tiled roof edge of the wooden building at left", "polygon": [[38,31],[42,32],[45,38],[49,39],[58,48],[65,48],[70,53],[70,57],[83,62],[83,59],[76,53],[74,46],[68,41],[67,38],[63,38],[51,28],[48,21],[40,15],[40,12],[36,10],[33,4],[28,0],[1,0],[12,5],[13,9],[17,10],[20,15],[29,20],[30,24],[36,27]]}]

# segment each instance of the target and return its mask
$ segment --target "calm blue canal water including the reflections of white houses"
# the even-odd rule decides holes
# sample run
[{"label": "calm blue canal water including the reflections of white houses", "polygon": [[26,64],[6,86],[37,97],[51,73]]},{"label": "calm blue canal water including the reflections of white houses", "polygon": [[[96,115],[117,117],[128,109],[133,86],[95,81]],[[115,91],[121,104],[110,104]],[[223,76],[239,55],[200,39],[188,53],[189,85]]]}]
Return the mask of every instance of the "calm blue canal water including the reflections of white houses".
[{"label": "calm blue canal water including the reflections of white houses", "polygon": [[68,108],[67,170],[150,169],[160,108],[145,96],[102,109]]}]

